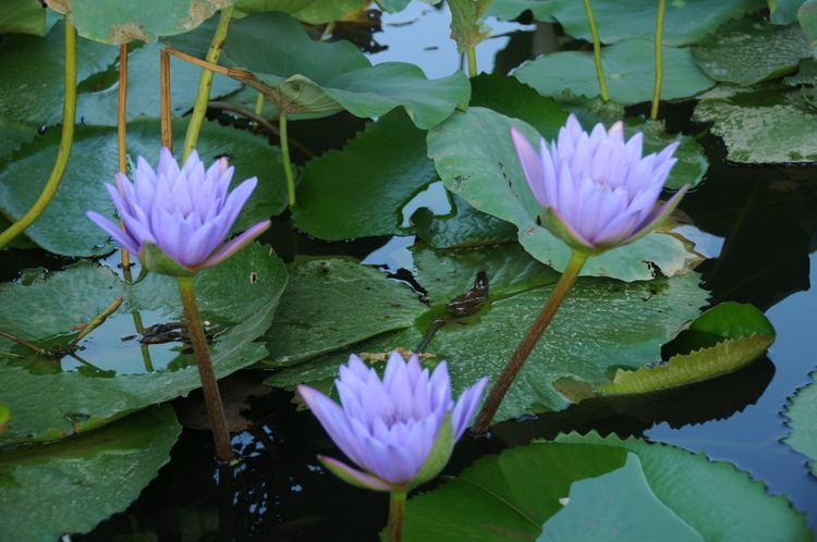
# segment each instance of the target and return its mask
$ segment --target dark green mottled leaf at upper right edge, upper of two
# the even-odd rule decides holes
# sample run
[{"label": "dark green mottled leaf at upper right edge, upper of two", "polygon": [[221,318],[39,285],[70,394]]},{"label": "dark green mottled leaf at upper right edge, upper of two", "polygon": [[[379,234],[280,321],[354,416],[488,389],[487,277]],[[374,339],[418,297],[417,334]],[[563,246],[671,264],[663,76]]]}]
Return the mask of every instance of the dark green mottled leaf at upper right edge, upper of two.
[{"label": "dark green mottled leaf at upper right edge, upper of two", "polygon": [[693,58],[715,81],[748,86],[794,72],[809,52],[800,25],[778,26],[747,17],[698,44]]}]

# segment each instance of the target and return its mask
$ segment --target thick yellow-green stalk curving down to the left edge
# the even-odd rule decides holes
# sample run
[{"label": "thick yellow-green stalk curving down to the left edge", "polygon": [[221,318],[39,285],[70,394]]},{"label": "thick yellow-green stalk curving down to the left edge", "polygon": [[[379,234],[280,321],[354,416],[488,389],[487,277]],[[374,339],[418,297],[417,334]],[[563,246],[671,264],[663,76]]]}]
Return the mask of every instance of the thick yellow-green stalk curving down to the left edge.
[{"label": "thick yellow-green stalk curving down to the left edge", "polygon": [[62,104],[62,137],[60,138],[60,150],[57,153],[51,176],[48,177],[46,187],[37,198],[37,201],[28,209],[28,212],[0,233],[0,248],[4,247],[11,239],[20,235],[26,227],[42,214],[48,204],[51,202],[57,188],[60,186],[62,175],[65,173],[69,159],[71,158],[71,146],[74,143],[74,119],[76,116],[76,28],[65,19],[65,102]]}]

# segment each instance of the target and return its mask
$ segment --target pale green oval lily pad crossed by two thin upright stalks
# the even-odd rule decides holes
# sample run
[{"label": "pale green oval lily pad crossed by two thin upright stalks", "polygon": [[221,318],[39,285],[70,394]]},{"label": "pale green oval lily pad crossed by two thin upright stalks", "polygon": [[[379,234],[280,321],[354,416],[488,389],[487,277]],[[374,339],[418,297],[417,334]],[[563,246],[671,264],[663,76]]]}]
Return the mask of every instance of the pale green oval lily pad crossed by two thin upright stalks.
[{"label": "pale green oval lily pad crossed by two thin upright stalks", "polygon": [[[601,50],[601,63],[610,98],[622,103],[653,99],[656,66],[653,41],[627,39]],[[513,76],[544,95],[563,90],[593,98],[600,96],[593,53],[560,51],[540,57],[520,66]],[[661,99],[688,98],[715,83],[693,62],[688,48],[663,48],[663,85]]]}]

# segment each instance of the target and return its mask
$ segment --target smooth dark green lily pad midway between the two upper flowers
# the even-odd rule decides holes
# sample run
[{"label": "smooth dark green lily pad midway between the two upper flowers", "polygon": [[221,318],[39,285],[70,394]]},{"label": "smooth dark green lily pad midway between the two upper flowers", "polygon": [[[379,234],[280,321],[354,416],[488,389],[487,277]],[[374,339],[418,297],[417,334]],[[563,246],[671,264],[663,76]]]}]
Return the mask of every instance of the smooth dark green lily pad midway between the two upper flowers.
[{"label": "smooth dark green lily pad midway between the two upper flowers", "polygon": [[426,158],[426,132],[394,111],[369,123],[343,151],[306,164],[292,218],[328,241],[405,234],[403,207],[438,178]]}]

